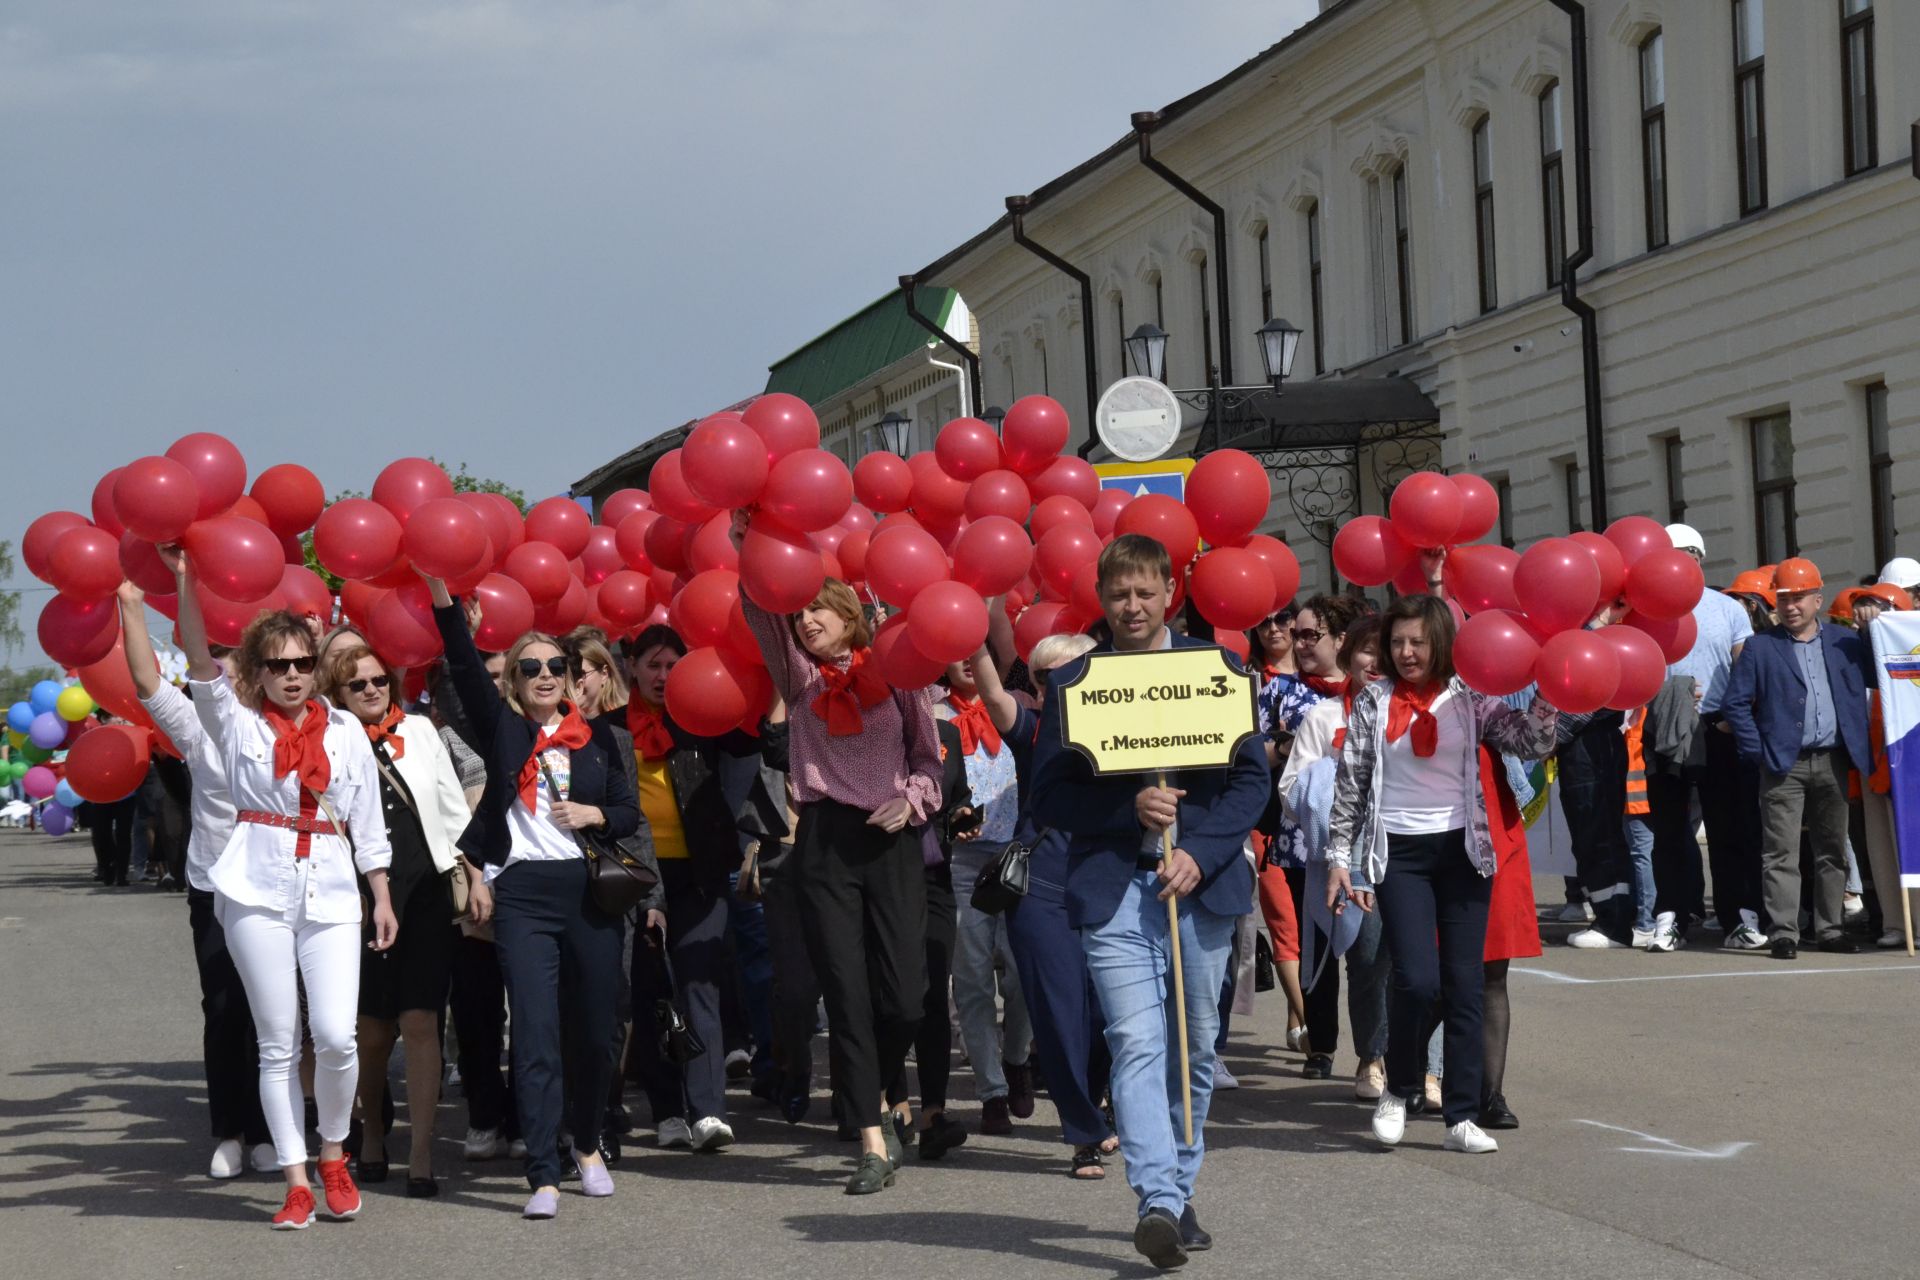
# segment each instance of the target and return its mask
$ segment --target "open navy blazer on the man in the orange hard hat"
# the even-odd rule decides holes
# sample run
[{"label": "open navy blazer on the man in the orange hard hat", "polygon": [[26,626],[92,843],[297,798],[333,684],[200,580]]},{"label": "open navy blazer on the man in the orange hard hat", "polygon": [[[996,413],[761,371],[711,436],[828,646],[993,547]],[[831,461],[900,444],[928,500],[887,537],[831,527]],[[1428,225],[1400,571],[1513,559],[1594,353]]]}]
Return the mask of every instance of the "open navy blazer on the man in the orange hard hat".
[{"label": "open navy blazer on the man in the orange hard hat", "polygon": [[[1832,622],[1820,624],[1826,683],[1834,691],[1839,747],[1862,775],[1874,770],[1866,741],[1866,689],[1872,656],[1859,635]],[[1784,628],[1761,631],[1734,658],[1734,674],[1720,699],[1720,716],[1734,727],[1734,747],[1768,773],[1786,773],[1799,758],[1807,718],[1807,679]]]}]

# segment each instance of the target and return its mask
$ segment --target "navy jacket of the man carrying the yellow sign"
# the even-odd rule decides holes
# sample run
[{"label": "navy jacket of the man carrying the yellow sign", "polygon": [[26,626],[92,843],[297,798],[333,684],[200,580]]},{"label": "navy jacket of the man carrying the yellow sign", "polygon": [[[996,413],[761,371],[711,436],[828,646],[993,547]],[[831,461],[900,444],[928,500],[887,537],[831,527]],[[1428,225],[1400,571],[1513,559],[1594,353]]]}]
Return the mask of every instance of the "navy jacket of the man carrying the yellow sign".
[{"label": "navy jacket of the man carrying the yellow sign", "polygon": [[[1175,649],[1204,649],[1200,641],[1173,637]],[[1092,652],[1112,652],[1112,643]],[[1148,777],[1112,773],[1094,777],[1087,756],[1062,741],[1060,689],[1073,683],[1087,658],[1075,658],[1046,681],[1041,733],[1033,745],[1033,821],[1068,835],[1068,923],[1075,929],[1102,925],[1119,908],[1135,864],[1146,852],[1146,829],[1133,800]],[[1254,904],[1254,869],[1242,848],[1273,791],[1273,771],[1261,739],[1248,739],[1225,770],[1190,770],[1167,777],[1185,789],[1177,848],[1200,865],[1192,894],[1215,915],[1246,915]]]}]

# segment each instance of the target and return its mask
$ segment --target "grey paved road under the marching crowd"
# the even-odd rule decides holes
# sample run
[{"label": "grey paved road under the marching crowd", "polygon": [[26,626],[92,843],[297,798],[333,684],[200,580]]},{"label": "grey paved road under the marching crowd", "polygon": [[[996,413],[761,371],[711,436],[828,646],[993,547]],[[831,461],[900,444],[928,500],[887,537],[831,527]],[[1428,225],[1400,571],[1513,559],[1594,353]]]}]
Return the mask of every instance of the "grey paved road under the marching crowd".
[{"label": "grey paved road under the marching crowd", "polygon": [[[0,1274],[1148,1274],[1117,1171],[1069,1182],[1044,1102],[1014,1138],[910,1163],[862,1201],[839,1194],[847,1148],[829,1128],[741,1096],[733,1151],[630,1151],[614,1199],[566,1196],[551,1224],[515,1217],[511,1167],[461,1165],[442,1142],[440,1201],[369,1188],[361,1221],[276,1236],[275,1178],[205,1178],[182,902],[96,889],[88,867],[79,839],[0,831]],[[1300,1080],[1271,1048],[1279,1006],[1263,1000],[1235,1031],[1244,1088],[1208,1130],[1200,1209],[1217,1245],[1187,1274],[1920,1274],[1905,1088],[1920,965],[1549,946],[1526,967],[1507,1082],[1524,1126],[1486,1157],[1440,1151],[1436,1121],[1375,1150],[1350,1084]],[[962,1071],[956,1096],[970,1088]],[[457,1102],[440,1128],[465,1128]]]}]

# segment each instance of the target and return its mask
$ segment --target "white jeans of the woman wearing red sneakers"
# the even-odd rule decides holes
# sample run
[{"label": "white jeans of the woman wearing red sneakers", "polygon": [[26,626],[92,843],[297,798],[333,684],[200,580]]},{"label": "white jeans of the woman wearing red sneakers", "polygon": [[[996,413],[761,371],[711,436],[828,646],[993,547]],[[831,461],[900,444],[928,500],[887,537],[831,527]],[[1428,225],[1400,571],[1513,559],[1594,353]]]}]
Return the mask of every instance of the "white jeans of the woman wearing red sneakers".
[{"label": "white jeans of the woman wearing red sneakers", "polygon": [[361,927],[307,921],[307,864],[286,912],[215,898],[227,950],[240,969],[253,1032],[259,1036],[259,1105],[280,1167],[307,1163],[305,1105],[300,1094],[300,986],[307,988],[313,1034],[313,1102],[321,1140],[344,1142],[359,1086]]}]

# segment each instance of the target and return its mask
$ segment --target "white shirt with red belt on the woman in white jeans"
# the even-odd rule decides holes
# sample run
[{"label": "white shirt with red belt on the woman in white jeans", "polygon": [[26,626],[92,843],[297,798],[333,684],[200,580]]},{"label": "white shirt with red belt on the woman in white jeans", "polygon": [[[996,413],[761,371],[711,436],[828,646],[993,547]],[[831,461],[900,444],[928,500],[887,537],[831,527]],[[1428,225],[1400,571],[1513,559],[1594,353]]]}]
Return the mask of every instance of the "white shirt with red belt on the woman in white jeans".
[{"label": "white shirt with red belt on the woman in white jeans", "polygon": [[[323,702],[324,706],[324,702]],[[300,814],[300,779],[273,775],[273,725],[259,712],[242,706],[227,676],[194,681],[194,710],[200,725],[213,741],[213,750],[227,768],[227,787],[236,810],[267,814]],[[361,917],[361,873],[384,871],[394,862],[386,839],[386,818],[380,814],[380,775],[374,770],[367,729],[338,708],[328,708],[326,762],[332,777],[326,783],[326,802],[353,837],[351,854],[346,839],[315,835],[307,869],[307,919],[323,925],[348,925]],[[317,818],[324,819],[323,808]],[[227,848],[213,864],[213,889],[240,906],[286,912],[300,892],[300,864],[294,844],[300,833],[253,821],[236,821]]]}]

